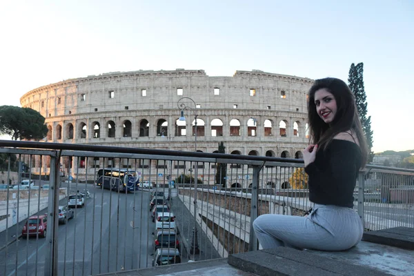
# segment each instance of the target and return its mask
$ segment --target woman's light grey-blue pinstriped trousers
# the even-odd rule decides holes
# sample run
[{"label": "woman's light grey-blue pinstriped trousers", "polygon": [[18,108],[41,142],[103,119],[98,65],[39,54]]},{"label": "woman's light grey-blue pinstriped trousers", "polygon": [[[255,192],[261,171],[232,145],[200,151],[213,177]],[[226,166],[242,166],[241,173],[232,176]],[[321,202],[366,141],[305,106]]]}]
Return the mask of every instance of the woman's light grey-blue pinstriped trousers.
[{"label": "woman's light grey-blue pinstriped trousers", "polygon": [[253,221],[261,248],[288,246],[316,250],[346,250],[362,238],[364,226],[355,210],[315,204],[308,217],[260,215]]}]

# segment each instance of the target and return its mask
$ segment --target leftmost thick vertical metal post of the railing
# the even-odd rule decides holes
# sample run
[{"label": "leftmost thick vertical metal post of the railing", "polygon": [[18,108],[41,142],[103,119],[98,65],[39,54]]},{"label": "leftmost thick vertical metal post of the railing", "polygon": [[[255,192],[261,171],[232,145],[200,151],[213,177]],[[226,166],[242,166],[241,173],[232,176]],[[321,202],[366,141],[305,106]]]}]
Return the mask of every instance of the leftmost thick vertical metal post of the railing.
[{"label": "leftmost thick vertical metal post of the railing", "polygon": [[50,156],[50,189],[48,194],[48,227],[46,241],[48,253],[45,256],[45,276],[58,275],[57,230],[59,227],[59,161],[56,155]]}]

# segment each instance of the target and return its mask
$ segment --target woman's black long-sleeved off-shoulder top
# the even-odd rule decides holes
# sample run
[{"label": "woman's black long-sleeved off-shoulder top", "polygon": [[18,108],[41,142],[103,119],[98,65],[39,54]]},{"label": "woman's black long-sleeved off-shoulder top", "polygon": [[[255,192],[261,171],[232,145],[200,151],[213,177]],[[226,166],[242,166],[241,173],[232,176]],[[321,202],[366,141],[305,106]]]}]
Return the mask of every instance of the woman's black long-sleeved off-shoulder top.
[{"label": "woman's black long-sleeved off-shoulder top", "polygon": [[316,204],[353,208],[362,152],[352,141],[333,139],[326,149],[319,148],[315,161],[308,164],[309,200]]}]

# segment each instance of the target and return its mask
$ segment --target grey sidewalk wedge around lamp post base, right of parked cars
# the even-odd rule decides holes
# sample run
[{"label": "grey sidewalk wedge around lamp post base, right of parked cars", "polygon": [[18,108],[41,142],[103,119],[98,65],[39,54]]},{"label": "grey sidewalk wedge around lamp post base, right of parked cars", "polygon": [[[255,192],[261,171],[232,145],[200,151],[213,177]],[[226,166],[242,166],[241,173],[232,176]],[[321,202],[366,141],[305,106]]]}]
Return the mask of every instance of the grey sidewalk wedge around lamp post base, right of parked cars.
[{"label": "grey sidewalk wedge around lamp post base, right of parked cars", "polygon": [[170,200],[170,208],[172,210],[172,213],[174,213],[176,216],[175,223],[179,229],[181,242],[185,247],[183,253],[187,253],[188,259],[191,259],[193,261],[201,261],[221,258],[217,250],[214,248],[213,244],[207,238],[207,235],[203,230],[201,230],[199,224],[196,224],[199,253],[190,254],[191,244],[193,243],[193,228],[195,224],[194,217],[186,208],[186,206],[184,206],[184,203],[179,199],[179,197],[172,197],[172,200]]}]

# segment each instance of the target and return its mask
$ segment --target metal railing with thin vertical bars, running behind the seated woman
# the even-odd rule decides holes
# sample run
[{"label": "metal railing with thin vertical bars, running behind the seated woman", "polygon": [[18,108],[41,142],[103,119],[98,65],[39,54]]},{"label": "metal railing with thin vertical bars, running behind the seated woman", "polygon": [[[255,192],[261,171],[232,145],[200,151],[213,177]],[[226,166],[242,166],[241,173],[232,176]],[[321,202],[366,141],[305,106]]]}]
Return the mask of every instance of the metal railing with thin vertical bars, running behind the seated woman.
[{"label": "metal railing with thin vertical bars, running behind the seated woman", "polygon": [[[155,247],[177,249],[175,262],[227,257],[257,250],[258,215],[311,207],[299,159],[30,141],[0,141],[0,154],[0,275],[146,268],[157,264]],[[99,180],[105,168],[108,183]],[[115,177],[121,171],[127,176]],[[414,227],[413,187],[414,170],[362,170],[354,208],[366,230]],[[157,192],[174,221],[152,219]],[[177,233],[169,246],[157,228]]]}]

